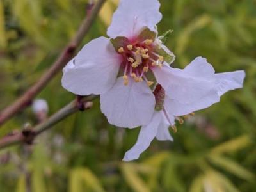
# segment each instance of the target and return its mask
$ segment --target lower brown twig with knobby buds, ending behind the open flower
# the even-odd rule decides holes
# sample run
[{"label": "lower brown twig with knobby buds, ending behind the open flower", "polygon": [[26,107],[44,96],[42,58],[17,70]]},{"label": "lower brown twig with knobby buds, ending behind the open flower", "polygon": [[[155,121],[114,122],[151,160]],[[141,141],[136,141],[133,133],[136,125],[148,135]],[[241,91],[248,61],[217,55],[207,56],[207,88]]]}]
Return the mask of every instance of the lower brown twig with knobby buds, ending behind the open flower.
[{"label": "lower brown twig with knobby buds, ending behind the open flower", "polygon": [[[92,100],[97,96],[90,95],[88,97],[83,97],[82,99],[74,100],[60,111],[56,112],[50,118],[42,122],[41,124],[36,125],[31,129],[24,129],[22,132],[10,134],[5,136],[0,140],[0,149],[15,145],[18,143],[32,144],[36,136],[41,134],[44,131],[52,128],[52,125],[57,124],[67,116],[76,113],[77,111],[83,111],[92,108]],[[82,107],[83,106],[83,107]]]}]

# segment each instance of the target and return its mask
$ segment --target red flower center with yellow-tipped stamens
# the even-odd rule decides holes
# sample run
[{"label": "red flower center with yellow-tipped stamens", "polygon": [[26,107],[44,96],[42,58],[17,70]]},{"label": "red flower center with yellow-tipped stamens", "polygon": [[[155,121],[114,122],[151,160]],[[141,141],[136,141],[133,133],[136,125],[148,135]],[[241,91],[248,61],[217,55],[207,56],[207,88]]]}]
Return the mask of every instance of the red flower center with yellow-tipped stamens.
[{"label": "red flower center with yellow-tipped stamens", "polygon": [[135,82],[146,81],[148,86],[154,84],[153,81],[148,81],[146,74],[153,67],[161,68],[164,58],[156,52],[154,47],[159,46],[151,39],[143,42],[130,43],[125,47],[119,47],[118,53],[124,58],[122,65],[124,66],[124,85],[129,84],[129,76]]}]

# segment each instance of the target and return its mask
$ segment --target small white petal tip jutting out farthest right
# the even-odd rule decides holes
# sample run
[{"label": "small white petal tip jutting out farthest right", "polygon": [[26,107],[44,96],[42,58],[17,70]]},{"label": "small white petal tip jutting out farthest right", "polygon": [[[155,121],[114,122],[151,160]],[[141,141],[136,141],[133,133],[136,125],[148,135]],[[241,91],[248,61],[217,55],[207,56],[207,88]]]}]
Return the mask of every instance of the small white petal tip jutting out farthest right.
[{"label": "small white petal tip jutting out farthest right", "polygon": [[215,74],[218,95],[221,96],[229,90],[242,88],[244,77],[245,72],[243,70]]}]

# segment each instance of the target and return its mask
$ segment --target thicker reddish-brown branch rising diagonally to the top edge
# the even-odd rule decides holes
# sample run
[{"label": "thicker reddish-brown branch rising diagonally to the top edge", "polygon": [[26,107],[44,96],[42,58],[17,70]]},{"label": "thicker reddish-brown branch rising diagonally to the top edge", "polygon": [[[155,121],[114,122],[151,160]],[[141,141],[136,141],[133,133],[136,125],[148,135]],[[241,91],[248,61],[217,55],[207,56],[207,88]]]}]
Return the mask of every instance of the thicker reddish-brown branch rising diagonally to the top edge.
[{"label": "thicker reddish-brown branch rising diagonally to the top edge", "polygon": [[63,68],[69,60],[72,59],[77,46],[82,42],[84,35],[88,33],[93,21],[97,17],[100,8],[105,3],[106,0],[99,0],[93,6],[90,15],[83,20],[80,28],[78,29],[74,39],[67,45],[67,47],[61,52],[60,56],[54,62],[51,68],[43,74],[42,77],[33,85],[29,90],[27,90],[19,99],[15,100],[13,104],[3,109],[0,112],[0,125],[3,125],[6,120],[11,118],[13,115],[26,108],[34,97],[51,81],[51,79],[56,76],[56,74]]}]

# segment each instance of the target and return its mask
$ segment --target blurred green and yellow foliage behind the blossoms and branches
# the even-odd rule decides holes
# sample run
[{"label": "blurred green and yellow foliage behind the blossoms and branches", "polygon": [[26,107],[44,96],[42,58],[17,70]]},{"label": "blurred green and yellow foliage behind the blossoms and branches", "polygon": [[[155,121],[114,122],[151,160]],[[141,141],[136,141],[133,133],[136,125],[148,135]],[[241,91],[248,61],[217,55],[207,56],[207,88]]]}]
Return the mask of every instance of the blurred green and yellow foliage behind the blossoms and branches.
[{"label": "blurred green and yellow foliage behind the blossoms and branches", "polygon": [[[93,109],[44,132],[32,146],[0,151],[0,191],[256,191],[256,1],[160,0],[159,33],[173,29],[167,45],[184,68],[204,56],[216,72],[246,70],[244,88],[198,111],[174,141],[152,142],[138,161],[122,162],[140,129],[109,125]],[[0,109],[35,83],[86,16],[86,0],[0,1]],[[83,45],[106,28],[118,1],[108,0]],[[136,5],[134,5],[136,6]],[[97,54],[97,53],[95,53]],[[61,87],[61,72],[38,95],[51,115],[75,98]],[[41,118],[44,118],[41,116]],[[28,108],[0,129],[0,136],[35,125]]]}]

